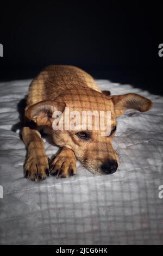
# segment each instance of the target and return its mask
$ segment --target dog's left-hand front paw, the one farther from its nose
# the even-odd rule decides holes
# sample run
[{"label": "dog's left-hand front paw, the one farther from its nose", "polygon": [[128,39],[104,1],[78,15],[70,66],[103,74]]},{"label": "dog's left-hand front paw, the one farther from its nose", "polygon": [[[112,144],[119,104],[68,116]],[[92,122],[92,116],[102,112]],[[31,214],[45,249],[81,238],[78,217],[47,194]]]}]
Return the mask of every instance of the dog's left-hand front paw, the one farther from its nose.
[{"label": "dog's left-hand front paw, the one farther from its nose", "polygon": [[45,180],[49,176],[49,163],[46,156],[28,157],[24,167],[24,178],[33,181]]}]

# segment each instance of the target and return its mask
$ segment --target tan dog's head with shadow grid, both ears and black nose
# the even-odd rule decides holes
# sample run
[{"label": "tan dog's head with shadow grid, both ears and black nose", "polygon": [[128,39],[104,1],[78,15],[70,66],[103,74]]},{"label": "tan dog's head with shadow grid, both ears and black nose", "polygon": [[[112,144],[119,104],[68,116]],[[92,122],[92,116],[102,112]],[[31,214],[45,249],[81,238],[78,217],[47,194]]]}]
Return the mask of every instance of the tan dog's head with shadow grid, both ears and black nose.
[{"label": "tan dog's head with shadow grid, both ears and black nose", "polygon": [[[70,114],[68,129],[67,119],[65,119],[67,107]],[[128,108],[145,112],[151,107],[151,100],[137,94],[106,96],[95,90],[79,89],[78,92],[77,90],[71,90],[68,93],[62,93],[54,101],[49,100],[36,103],[27,109],[26,116],[29,120],[35,121],[39,126],[49,126],[55,144],[72,149],[77,159],[87,169],[92,173],[102,175],[116,172],[119,163],[118,155],[111,145],[117,127],[116,118],[122,115]],[[62,113],[62,129],[58,130],[54,128],[53,124],[59,124],[61,115],[54,115],[56,111]],[[81,125],[83,118],[74,117],[76,115],[74,111],[79,113],[80,117],[83,117],[85,112],[90,111],[89,113],[92,113],[92,119],[89,119],[89,115],[86,114],[86,119],[84,119],[84,125],[86,124],[86,126],[84,126],[84,129],[83,125]],[[99,113],[97,119],[94,115],[95,112]],[[100,113],[102,112],[104,115],[101,118]],[[110,113],[109,124],[106,120],[108,117],[106,112]],[[96,126],[96,121],[100,121],[100,119],[103,120],[106,130],[109,126],[107,132],[104,131],[101,124],[98,123],[98,127]],[[92,120],[91,129],[89,120]],[[73,124],[73,127],[70,127],[70,124]]]}]

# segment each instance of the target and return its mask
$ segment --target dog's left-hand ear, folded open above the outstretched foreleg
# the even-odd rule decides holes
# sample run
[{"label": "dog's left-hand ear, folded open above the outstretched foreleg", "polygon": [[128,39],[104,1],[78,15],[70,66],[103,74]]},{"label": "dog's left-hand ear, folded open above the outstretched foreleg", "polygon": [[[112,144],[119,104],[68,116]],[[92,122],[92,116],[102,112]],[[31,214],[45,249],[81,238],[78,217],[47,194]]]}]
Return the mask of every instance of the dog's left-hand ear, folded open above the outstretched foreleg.
[{"label": "dog's left-hand ear, folded open above the outstretched foreleg", "polygon": [[54,111],[63,112],[65,109],[65,103],[45,100],[34,104],[26,111],[26,117],[29,120],[33,120],[38,126],[47,125],[52,127]]}]

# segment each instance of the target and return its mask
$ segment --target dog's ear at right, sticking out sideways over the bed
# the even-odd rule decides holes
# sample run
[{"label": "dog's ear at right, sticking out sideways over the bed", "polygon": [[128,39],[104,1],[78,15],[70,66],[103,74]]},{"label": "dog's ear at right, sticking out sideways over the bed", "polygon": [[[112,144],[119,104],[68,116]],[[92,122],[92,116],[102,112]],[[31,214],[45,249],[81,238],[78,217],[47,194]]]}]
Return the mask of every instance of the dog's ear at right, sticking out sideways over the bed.
[{"label": "dog's ear at right, sticking out sideways over the bed", "polygon": [[129,93],[124,95],[114,95],[111,97],[115,106],[116,116],[122,115],[128,108],[136,109],[140,112],[148,111],[152,108],[153,104],[151,100],[138,94]]}]

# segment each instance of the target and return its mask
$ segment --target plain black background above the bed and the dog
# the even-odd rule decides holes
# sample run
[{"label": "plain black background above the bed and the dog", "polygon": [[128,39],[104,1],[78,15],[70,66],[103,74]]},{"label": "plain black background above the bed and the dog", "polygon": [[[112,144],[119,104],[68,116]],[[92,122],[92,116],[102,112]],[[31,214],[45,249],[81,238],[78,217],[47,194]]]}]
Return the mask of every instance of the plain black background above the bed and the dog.
[{"label": "plain black background above the bed and the dog", "polygon": [[95,78],[162,94],[163,8],[144,2],[5,2],[0,80],[33,78],[46,65],[71,64]]}]

